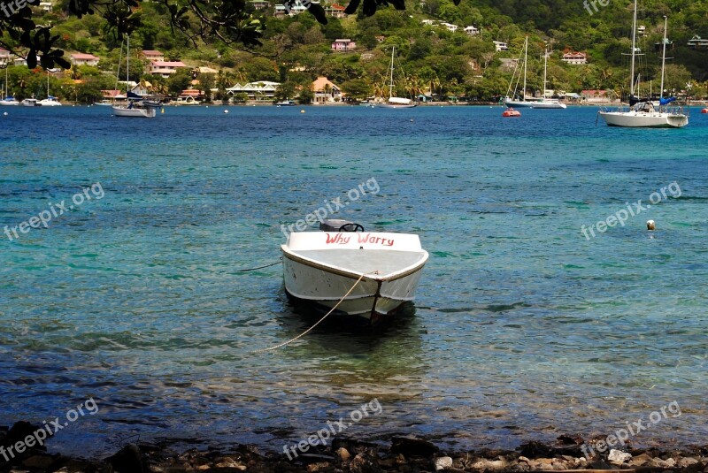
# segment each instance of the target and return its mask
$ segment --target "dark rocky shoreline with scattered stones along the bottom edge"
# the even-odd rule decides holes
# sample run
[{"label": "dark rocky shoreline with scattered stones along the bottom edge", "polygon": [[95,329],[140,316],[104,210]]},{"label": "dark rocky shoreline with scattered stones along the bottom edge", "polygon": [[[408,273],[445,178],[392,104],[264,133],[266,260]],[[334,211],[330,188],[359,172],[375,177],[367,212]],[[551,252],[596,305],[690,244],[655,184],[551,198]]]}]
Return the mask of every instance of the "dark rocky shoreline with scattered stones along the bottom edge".
[{"label": "dark rocky shoreline with scattered stones along the bottom edge", "polygon": [[[192,449],[175,452],[167,443],[127,444],[101,460],[49,454],[46,446],[33,446],[7,456],[8,448],[27,438],[35,426],[19,422],[0,428],[0,473],[186,473],[241,471],[282,473],[451,473],[527,471],[637,473],[708,473],[708,445],[681,450],[659,448],[612,449],[603,439],[562,435],[554,444],[527,442],[516,450],[482,449],[446,452],[425,439],[393,437],[373,444],[336,438],[327,446],[312,446],[306,453],[261,453],[255,446],[237,446],[230,452]],[[600,450],[603,450],[600,452]],[[9,461],[7,461],[9,460]]]}]

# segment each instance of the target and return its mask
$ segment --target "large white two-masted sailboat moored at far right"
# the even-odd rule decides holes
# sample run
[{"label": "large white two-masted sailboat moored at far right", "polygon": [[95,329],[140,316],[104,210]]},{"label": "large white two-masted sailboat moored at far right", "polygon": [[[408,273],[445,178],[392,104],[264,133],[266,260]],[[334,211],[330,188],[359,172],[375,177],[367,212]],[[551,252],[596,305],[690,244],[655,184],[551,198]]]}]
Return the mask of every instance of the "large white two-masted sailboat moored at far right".
[{"label": "large white two-masted sailboat moored at far right", "polygon": [[[689,117],[681,111],[662,111],[656,109],[650,99],[642,100],[635,97],[635,54],[636,54],[636,2],[635,15],[632,22],[632,61],[629,79],[629,111],[598,111],[607,126],[627,126],[633,128],[680,128],[689,124]],[[666,63],[666,16],[664,17],[664,52],[661,57],[661,92],[659,103],[666,105],[674,97],[664,98],[664,66]]]}]

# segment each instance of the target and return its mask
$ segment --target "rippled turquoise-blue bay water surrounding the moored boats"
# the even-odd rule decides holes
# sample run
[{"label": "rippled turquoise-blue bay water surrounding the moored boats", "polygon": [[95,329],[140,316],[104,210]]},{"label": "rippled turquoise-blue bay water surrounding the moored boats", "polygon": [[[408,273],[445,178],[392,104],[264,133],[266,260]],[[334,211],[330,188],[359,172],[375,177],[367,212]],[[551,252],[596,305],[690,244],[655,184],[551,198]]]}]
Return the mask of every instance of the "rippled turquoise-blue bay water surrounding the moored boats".
[{"label": "rippled turquoise-blue bay water surrounding the moored boats", "polygon": [[[0,116],[0,230],[91,197],[0,233],[0,425],[93,397],[96,416],[51,449],[139,435],[281,450],[375,398],[381,414],[347,435],[512,447],[606,435],[676,401],[681,416],[635,444],[708,434],[708,116],[630,130],[595,126],[591,108],[223,110]],[[420,235],[414,307],[253,353],[312,317],[280,265],[239,270],[277,261],[281,225],[369,179],[380,191],[339,217]],[[624,226],[582,233],[662,187]]]}]

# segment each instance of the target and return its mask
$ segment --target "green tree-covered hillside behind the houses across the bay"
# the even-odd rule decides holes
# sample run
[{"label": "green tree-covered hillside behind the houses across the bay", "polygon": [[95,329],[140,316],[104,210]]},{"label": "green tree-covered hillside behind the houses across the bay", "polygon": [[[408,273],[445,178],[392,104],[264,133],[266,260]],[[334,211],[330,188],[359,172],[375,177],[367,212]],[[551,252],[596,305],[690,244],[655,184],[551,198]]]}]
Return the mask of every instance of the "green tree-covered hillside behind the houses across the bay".
[{"label": "green tree-covered hillside behind the houses across the bay", "polygon": [[[269,80],[281,83],[276,98],[301,95],[307,102],[312,80],[319,76],[337,84],[350,99],[384,96],[388,95],[390,51],[396,46],[396,71],[403,72],[396,79],[396,95],[492,101],[507,92],[513,59],[519,57],[525,36],[529,37],[530,94],[543,94],[545,48],[551,51],[549,89],[565,93],[606,90],[610,97],[624,96],[628,89],[632,11],[627,0],[607,6],[595,2],[595,9],[589,4],[584,7],[579,0],[462,0],[458,5],[450,0],[415,0],[406,3],[405,10],[380,5],[370,16],[364,9],[341,19],[327,16],[327,24],[308,12],[275,18],[274,4],[257,10],[252,2],[241,2],[246,23],[258,26],[258,34],[245,41],[204,34],[196,14],[189,10],[177,15],[177,21],[191,21],[182,24],[182,30],[175,28],[175,11],[166,3],[142,1],[130,8],[124,5],[124,10],[107,9],[78,18],[71,12],[76,1],[59,0],[50,12],[34,5],[27,9],[37,25],[51,27],[56,38],[52,47],[65,51],[65,57],[81,52],[101,58],[97,66],[74,65],[63,77],[50,75],[50,90],[55,95],[82,103],[100,100],[102,90],[116,87],[119,61],[121,74],[125,74],[121,30],[131,38],[130,79],[173,97],[194,87],[209,95],[208,99],[239,100],[227,95],[226,89],[236,83]],[[320,6],[324,10],[330,5]],[[708,37],[708,0],[641,2],[643,34],[638,47],[643,53],[643,84],[653,83],[658,91],[664,15],[672,42],[667,56],[673,57],[666,66],[665,88],[677,95],[705,97],[708,49],[694,49],[687,43],[696,35]],[[443,23],[458,29],[450,31]],[[466,34],[464,28],[469,26],[478,33]],[[12,29],[4,27],[4,48],[27,54],[21,38],[13,36]],[[333,50],[332,42],[342,38],[356,42],[356,49]],[[494,42],[506,43],[508,50],[496,50]],[[189,67],[169,78],[151,75],[146,73],[140,50],[160,50],[165,60],[179,60]],[[585,53],[588,64],[566,64],[562,57],[567,51]],[[200,73],[199,66],[218,72]],[[41,68],[10,66],[7,72],[10,95],[23,98],[46,93],[47,73]],[[4,75],[0,81],[4,82]]]}]

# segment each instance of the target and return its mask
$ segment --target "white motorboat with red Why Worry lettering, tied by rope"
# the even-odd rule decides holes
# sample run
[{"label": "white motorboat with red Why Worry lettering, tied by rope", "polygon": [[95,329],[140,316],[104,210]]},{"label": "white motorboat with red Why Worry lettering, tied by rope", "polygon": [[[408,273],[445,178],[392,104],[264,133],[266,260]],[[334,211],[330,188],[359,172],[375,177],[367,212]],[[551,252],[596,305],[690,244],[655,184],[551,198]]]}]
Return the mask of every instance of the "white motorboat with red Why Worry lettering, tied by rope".
[{"label": "white motorboat with red Why Worry lettering, tied by rope", "polygon": [[413,300],[428,258],[418,235],[364,232],[361,225],[336,219],[325,220],[320,229],[324,232],[290,233],[281,246],[290,296],[327,309],[342,301],[337,316],[373,324]]}]

